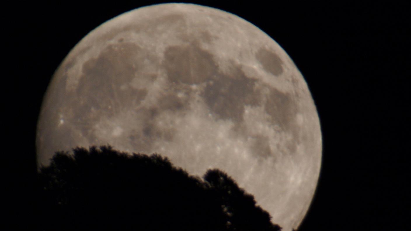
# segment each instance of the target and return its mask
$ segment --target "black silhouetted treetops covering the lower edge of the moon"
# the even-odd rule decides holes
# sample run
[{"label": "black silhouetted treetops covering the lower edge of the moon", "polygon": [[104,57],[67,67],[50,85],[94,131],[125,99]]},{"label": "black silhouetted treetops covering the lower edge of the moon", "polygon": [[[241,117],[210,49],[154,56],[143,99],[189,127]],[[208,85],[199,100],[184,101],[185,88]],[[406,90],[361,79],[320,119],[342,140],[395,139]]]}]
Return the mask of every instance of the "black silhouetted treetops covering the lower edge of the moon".
[{"label": "black silhouetted treetops covering the lower edge of the moon", "polygon": [[36,229],[279,231],[226,173],[189,176],[157,154],[56,152],[38,174]]}]

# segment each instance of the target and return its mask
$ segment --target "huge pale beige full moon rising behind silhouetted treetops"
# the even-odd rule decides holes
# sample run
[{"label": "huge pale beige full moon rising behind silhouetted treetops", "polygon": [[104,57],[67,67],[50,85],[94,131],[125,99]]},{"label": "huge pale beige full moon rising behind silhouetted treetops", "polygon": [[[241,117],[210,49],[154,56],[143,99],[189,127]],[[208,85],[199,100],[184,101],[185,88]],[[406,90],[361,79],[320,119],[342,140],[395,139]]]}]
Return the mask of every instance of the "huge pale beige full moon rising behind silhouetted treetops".
[{"label": "huge pale beige full moon rising behind silhouetted treetops", "polygon": [[55,71],[37,125],[39,164],[106,144],[159,153],[193,175],[221,169],[285,231],[307,213],[321,166],[316,106],[291,58],[244,19],[193,4],[121,14]]}]

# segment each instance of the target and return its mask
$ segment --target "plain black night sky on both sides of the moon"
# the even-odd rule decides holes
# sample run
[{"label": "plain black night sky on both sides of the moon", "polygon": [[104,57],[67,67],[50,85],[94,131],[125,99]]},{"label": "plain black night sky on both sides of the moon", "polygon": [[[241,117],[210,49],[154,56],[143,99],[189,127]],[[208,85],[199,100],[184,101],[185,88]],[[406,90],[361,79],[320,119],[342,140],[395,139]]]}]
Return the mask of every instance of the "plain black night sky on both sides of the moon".
[{"label": "plain black night sky on both sides of the moon", "polygon": [[[18,125],[9,133],[11,141],[20,144],[12,152],[9,188],[21,197],[12,216],[29,219],[33,212],[35,126],[55,69],[82,37],[104,21],[160,2],[21,3],[18,10],[6,13],[13,18],[7,21],[12,29],[10,46],[17,48],[11,57],[18,61],[11,78],[16,82],[9,88],[13,100],[7,104]],[[409,5],[191,2],[237,14],[261,28],[290,55],[308,83],[321,122],[323,164],[300,230],[409,228],[404,214],[410,208],[406,192],[410,186]]]}]

